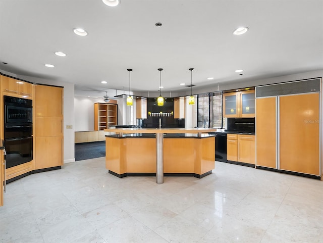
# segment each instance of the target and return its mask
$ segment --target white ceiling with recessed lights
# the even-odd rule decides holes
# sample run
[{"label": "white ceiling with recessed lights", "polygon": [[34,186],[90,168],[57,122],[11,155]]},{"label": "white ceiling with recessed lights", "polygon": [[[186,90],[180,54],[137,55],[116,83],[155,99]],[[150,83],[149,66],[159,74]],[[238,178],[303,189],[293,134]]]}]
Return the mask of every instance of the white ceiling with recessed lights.
[{"label": "white ceiling with recessed lights", "polygon": [[0,70],[72,82],[76,94],[128,91],[128,68],[135,92],[158,90],[158,68],[162,91],[190,90],[179,85],[189,68],[196,87],[318,70],[322,13],[323,0],[0,0]]}]

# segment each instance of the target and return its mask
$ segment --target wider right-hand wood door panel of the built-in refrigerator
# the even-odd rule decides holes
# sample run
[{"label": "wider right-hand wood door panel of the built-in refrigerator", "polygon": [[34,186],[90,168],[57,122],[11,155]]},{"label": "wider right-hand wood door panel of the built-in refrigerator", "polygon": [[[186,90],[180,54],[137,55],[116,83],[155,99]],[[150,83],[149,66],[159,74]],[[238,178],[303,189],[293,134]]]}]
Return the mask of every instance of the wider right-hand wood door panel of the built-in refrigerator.
[{"label": "wider right-hand wood door panel of the built-in refrigerator", "polygon": [[319,94],[281,96],[279,104],[279,169],[319,175]]}]

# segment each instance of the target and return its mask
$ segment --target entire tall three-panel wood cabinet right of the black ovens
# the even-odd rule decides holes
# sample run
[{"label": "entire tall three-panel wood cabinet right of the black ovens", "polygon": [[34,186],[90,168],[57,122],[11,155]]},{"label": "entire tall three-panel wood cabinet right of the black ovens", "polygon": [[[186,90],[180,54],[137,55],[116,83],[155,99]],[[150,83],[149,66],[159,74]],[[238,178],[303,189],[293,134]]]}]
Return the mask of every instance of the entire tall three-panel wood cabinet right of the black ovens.
[{"label": "entire tall three-panel wood cabinet right of the black ovens", "polygon": [[35,169],[64,163],[63,87],[35,85]]}]

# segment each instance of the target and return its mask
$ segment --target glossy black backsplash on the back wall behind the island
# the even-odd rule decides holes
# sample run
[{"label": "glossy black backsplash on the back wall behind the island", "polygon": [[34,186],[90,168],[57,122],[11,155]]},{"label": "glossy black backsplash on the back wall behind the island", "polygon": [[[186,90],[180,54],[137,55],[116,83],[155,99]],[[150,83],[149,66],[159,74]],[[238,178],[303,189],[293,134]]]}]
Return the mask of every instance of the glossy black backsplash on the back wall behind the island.
[{"label": "glossy black backsplash on the back wall behind the island", "polygon": [[[172,113],[174,112],[174,99],[167,98],[164,102],[164,106],[157,106],[155,98],[148,98],[147,101],[148,112],[151,113]],[[158,128],[159,118],[161,119],[161,128],[184,128],[185,119],[174,119],[174,116],[153,117],[148,115],[148,119],[141,121],[142,128]]]}]

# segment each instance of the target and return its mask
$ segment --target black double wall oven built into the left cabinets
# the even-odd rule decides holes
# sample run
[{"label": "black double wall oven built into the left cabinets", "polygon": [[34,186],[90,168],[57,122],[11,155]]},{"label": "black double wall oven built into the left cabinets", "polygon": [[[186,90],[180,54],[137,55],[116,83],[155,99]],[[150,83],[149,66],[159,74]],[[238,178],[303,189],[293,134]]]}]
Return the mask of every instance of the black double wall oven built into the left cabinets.
[{"label": "black double wall oven built into the left cabinets", "polygon": [[6,168],[32,160],[32,100],[4,96]]}]

